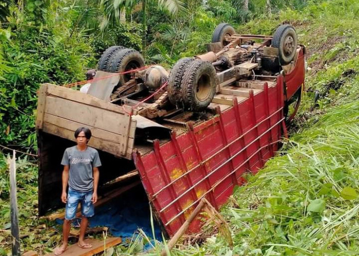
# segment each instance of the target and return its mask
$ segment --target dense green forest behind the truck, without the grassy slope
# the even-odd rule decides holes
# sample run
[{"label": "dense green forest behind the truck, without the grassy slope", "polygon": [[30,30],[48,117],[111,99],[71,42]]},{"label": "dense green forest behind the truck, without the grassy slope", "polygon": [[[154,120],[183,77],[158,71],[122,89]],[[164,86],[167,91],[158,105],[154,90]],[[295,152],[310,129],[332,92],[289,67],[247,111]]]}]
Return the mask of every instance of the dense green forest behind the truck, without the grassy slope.
[{"label": "dense green forest behind the truck, without the grassy slope", "polygon": [[[170,68],[205,51],[221,22],[236,26],[301,0],[2,0],[0,1],[0,144],[36,153],[36,91],[44,82],[85,79],[113,45],[143,50],[146,61]],[[265,24],[258,32],[272,32]]]}]

